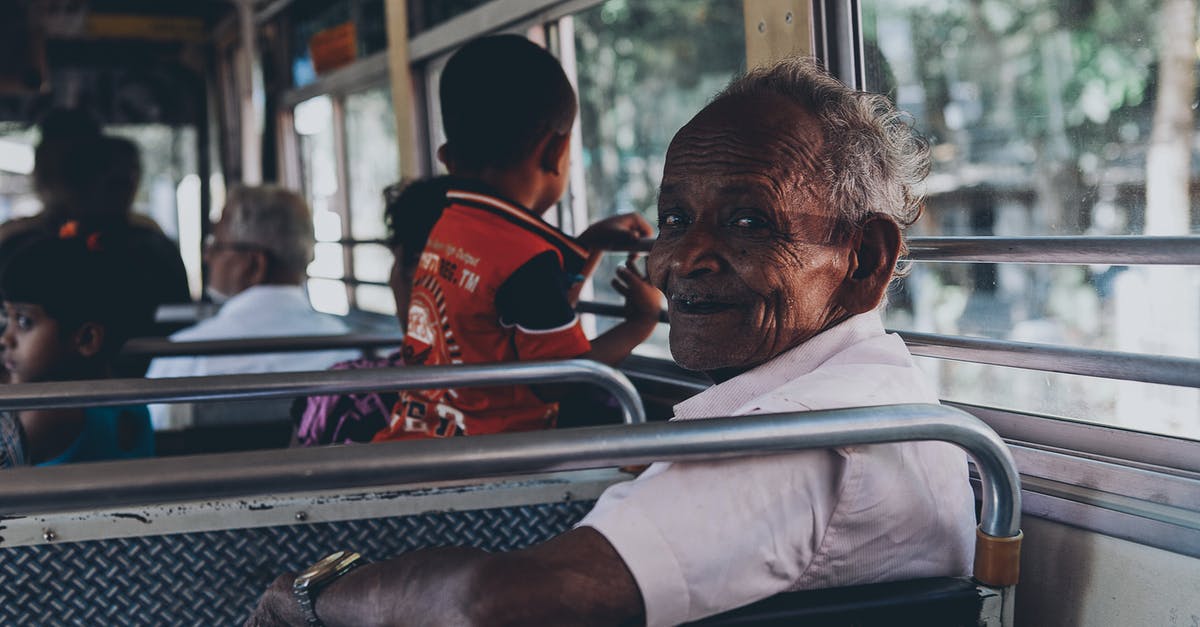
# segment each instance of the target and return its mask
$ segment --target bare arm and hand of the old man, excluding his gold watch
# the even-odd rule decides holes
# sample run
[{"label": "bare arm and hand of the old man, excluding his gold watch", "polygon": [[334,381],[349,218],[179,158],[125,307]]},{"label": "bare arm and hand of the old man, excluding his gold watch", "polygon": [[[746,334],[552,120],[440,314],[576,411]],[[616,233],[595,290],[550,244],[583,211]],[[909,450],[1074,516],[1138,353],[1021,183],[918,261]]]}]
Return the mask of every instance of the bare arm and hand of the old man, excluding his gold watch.
[{"label": "bare arm and hand of the old man, excluding his gold watch", "polygon": [[[294,575],[275,581],[247,626],[302,627]],[[611,626],[638,623],[642,597],[625,563],[581,527],[529,549],[432,549],[358,568],[317,597],[329,627]]]}]

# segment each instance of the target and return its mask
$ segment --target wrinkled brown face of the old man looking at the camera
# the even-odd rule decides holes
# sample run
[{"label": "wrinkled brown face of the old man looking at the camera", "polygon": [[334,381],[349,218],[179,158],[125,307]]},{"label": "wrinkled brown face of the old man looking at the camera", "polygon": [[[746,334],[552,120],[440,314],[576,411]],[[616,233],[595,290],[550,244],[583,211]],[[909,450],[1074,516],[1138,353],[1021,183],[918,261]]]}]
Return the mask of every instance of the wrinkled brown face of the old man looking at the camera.
[{"label": "wrinkled brown face of the old man looking at the camera", "polygon": [[727,378],[847,317],[822,149],[816,119],[778,96],[714,102],[676,135],[648,268],[679,365]]}]

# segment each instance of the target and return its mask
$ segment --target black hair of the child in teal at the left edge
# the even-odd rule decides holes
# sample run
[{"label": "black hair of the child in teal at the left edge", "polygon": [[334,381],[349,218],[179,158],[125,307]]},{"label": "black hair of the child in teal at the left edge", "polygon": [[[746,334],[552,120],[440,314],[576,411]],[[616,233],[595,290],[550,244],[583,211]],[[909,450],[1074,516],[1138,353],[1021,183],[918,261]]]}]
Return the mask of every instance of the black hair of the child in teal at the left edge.
[{"label": "black hair of the child in teal at the left edge", "polygon": [[64,333],[85,322],[103,324],[101,354],[110,357],[152,322],[155,304],[140,293],[145,282],[125,253],[125,233],[89,233],[68,222],[61,235],[38,233],[4,259],[0,298],[41,305]]}]

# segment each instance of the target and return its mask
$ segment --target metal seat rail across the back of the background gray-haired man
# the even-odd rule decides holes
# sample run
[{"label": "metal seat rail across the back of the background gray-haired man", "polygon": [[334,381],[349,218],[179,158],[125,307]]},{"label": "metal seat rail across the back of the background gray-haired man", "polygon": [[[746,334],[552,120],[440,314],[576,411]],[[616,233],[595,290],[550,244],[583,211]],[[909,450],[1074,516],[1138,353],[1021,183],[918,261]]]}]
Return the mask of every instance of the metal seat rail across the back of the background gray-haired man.
[{"label": "metal seat rail across the back of the background gray-haired man", "polygon": [[180,357],[212,354],[290,353],[341,348],[389,348],[404,344],[400,334],[338,334],[278,338],[241,338],[173,342],[166,338],[134,338],[121,348],[121,357]]}]

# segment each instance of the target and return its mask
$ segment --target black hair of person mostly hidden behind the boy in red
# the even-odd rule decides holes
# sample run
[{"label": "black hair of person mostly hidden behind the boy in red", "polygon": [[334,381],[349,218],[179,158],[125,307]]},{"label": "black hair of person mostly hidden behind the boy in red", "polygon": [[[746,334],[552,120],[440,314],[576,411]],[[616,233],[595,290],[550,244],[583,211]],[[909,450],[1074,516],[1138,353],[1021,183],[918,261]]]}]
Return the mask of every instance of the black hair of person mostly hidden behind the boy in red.
[{"label": "black hair of person mostly hidden behind the boy in red", "polygon": [[402,265],[416,265],[421,258],[433,225],[449,204],[446,192],[454,184],[454,177],[433,177],[407,184],[397,183],[383,191],[383,221],[388,225],[388,245],[401,250]]}]

